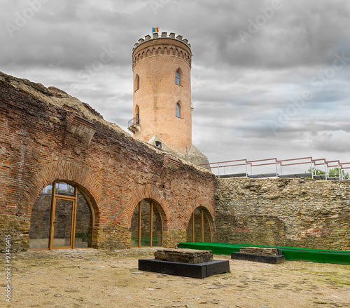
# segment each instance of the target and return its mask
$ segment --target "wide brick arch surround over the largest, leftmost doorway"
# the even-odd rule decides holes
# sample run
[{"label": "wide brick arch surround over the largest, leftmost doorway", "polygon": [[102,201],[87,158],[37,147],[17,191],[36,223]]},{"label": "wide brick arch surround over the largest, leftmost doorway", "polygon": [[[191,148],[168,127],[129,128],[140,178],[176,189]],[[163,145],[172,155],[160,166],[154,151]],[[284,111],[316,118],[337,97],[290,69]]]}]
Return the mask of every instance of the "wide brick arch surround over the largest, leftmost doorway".
[{"label": "wide brick arch surround over the largest, leftmost doorway", "polygon": [[43,167],[25,183],[20,194],[20,204],[22,205],[20,210],[26,217],[30,219],[31,209],[34,206],[38,194],[55,180],[74,182],[78,186],[83,187],[83,190],[88,192],[94,201],[92,206],[95,211],[97,224],[99,220],[103,220],[102,216],[104,216],[106,201],[102,194],[101,184],[97,182],[86,168],[76,163],[71,163],[70,161],[51,163]]}]

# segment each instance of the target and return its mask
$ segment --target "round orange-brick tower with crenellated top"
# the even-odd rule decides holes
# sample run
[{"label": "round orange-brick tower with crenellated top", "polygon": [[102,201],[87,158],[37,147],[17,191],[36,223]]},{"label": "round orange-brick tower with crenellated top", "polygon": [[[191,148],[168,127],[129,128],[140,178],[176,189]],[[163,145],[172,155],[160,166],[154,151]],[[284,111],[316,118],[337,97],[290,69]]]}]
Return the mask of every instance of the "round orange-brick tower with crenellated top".
[{"label": "round orange-brick tower with crenellated top", "polygon": [[153,33],[132,50],[134,137],[196,164],[208,159],[192,145],[192,53],[187,39]]}]

